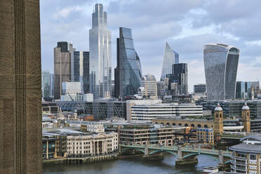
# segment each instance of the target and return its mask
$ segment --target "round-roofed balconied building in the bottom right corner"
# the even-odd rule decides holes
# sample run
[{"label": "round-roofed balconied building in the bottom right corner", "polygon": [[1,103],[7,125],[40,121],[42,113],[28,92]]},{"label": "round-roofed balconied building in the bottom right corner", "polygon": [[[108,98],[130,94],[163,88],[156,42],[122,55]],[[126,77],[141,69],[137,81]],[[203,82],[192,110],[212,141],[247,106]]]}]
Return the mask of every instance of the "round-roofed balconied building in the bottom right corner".
[{"label": "round-roofed balconied building in the bottom right corner", "polygon": [[250,135],[241,139],[241,144],[229,147],[232,155],[232,173],[261,173],[261,135]]}]

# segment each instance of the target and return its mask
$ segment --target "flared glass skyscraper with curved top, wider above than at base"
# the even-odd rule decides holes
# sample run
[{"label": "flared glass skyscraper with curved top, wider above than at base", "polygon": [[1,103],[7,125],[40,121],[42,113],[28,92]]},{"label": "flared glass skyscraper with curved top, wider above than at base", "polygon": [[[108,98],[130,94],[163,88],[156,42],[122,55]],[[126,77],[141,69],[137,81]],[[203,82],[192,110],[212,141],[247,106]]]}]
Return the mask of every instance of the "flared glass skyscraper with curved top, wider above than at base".
[{"label": "flared glass skyscraper with curved top, wider above than at base", "polygon": [[206,44],[203,58],[208,100],[233,100],[239,49],[225,44]]}]

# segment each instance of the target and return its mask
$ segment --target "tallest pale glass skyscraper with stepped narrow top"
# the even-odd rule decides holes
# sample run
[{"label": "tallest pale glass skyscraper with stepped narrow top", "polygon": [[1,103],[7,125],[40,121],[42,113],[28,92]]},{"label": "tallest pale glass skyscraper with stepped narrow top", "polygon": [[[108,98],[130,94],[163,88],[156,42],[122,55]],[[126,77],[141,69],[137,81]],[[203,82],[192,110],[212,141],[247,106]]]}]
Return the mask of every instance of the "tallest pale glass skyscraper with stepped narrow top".
[{"label": "tallest pale glass skyscraper with stepped narrow top", "polygon": [[109,98],[112,79],[111,32],[107,30],[107,13],[95,4],[93,28],[89,30],[91,93],[95,98]]}]

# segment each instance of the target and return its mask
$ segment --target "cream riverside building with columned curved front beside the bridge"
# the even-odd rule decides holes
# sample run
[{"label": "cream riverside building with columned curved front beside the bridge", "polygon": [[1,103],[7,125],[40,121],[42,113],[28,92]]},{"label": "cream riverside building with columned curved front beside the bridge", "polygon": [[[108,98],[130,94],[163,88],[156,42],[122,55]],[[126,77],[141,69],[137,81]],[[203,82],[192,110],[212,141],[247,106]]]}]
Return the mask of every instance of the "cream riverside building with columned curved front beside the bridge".
[{"label": "cream riverside building with columned curved front beside the bridge", "polygon": [[67,136],[67,156],[86,157],[118,151],[118,133],[106,132],[90,135]]}]

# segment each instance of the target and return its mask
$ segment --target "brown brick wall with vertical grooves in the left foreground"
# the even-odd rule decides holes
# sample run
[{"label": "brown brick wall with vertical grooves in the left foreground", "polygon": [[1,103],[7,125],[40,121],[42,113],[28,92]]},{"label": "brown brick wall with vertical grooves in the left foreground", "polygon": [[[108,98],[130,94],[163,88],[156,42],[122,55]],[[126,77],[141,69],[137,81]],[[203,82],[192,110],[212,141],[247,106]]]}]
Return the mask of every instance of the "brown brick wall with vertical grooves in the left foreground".
[{"label": "brown brick wall with vertical grooves in the left foreground", "polygon": [[39,0],[1,0],[0,21],[0,172],[42,173]]}]

